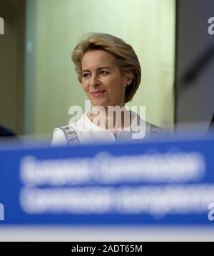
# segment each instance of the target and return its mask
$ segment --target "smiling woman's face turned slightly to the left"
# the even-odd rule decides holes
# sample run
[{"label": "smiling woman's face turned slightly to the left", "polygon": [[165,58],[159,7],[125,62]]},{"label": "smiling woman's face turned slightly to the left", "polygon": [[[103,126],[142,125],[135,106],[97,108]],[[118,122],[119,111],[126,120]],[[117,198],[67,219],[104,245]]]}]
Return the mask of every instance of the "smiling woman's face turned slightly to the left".
[{"label": "smiling woman's face turned slightly to the left", "polygon": [[121,106],[125,104],[127,84],[132,75],[123,74],[115,57],[103,50],[87,51],[82,59],[83,89],[93,106]]}]

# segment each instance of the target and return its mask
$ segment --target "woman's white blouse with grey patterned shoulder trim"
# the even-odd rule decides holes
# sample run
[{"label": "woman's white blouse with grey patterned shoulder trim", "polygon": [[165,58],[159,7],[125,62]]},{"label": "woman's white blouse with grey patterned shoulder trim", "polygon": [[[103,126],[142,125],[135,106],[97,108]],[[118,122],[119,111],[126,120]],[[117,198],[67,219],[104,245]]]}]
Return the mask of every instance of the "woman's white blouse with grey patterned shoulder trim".
[{"label": "woman's white blouse with grey patterned shoulder trim", "polygon": [[[69,124],[67,127],[58,127],[54,129],[54,136],[51,144],[73,144],[68,141],[68,133],[66,131],[75,131],[77,135],[76,144],[86,143],[103,143],[103,142],[128,142],[140,141],[144,139],[154,139],[160,137],[162,128],[141,119],[135,112],[131,112],[132,122],[130,127],[126,127],[117,134],[99,127],[90,119],[91,112],[85,112],[81,119]],[[66,128],[66,130],[65,130]]]}]

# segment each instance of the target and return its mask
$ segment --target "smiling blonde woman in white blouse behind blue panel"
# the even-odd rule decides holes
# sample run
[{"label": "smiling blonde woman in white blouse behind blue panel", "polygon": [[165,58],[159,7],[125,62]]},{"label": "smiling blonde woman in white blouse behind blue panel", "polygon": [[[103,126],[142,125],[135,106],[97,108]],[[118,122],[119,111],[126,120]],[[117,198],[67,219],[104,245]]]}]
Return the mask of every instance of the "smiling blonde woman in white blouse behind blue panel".
[{"label": "smiling blonde woman in white blouse behind blue panel", "polygon": [[159,137],[161,127],[125,108],[141,82],[141,66],[133,48],[110,34],[89,34],[72,60],[93,111],[66,127],[54,129],[52,144],[124,142]]}]

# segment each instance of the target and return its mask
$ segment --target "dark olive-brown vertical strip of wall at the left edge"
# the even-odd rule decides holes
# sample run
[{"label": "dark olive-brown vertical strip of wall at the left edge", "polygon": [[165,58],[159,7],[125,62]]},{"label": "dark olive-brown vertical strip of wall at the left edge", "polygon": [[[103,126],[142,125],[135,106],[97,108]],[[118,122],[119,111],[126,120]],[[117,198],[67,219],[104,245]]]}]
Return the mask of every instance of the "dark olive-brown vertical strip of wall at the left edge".
[{"label": "dark olive-brown vertical strip of wall at the left edge", "polygon": [[25,1],[0,0],[0,125],[24,131]]}]

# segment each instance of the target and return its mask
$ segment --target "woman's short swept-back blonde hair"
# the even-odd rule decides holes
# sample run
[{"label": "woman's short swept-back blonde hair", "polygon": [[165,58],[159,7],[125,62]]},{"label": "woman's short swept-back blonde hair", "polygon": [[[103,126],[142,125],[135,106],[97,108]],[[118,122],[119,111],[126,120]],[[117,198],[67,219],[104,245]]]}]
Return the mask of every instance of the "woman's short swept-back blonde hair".
[{"label": "woman's short swept-back blonde hair", "polygon": [[126,87],[125,92],[125,103],[129,102],[134,94],[136,94],[139,84],[141,83],[141,65],[132,46],[116,36],[104,33],[89,33],[81,39],[71,55],[78,74],[78,81],[81,82],[82,79],[81,61],[83,55],[86,51],[96,49],[113,54],[121,72],[133,73],[133,80],[131,84]]}]

